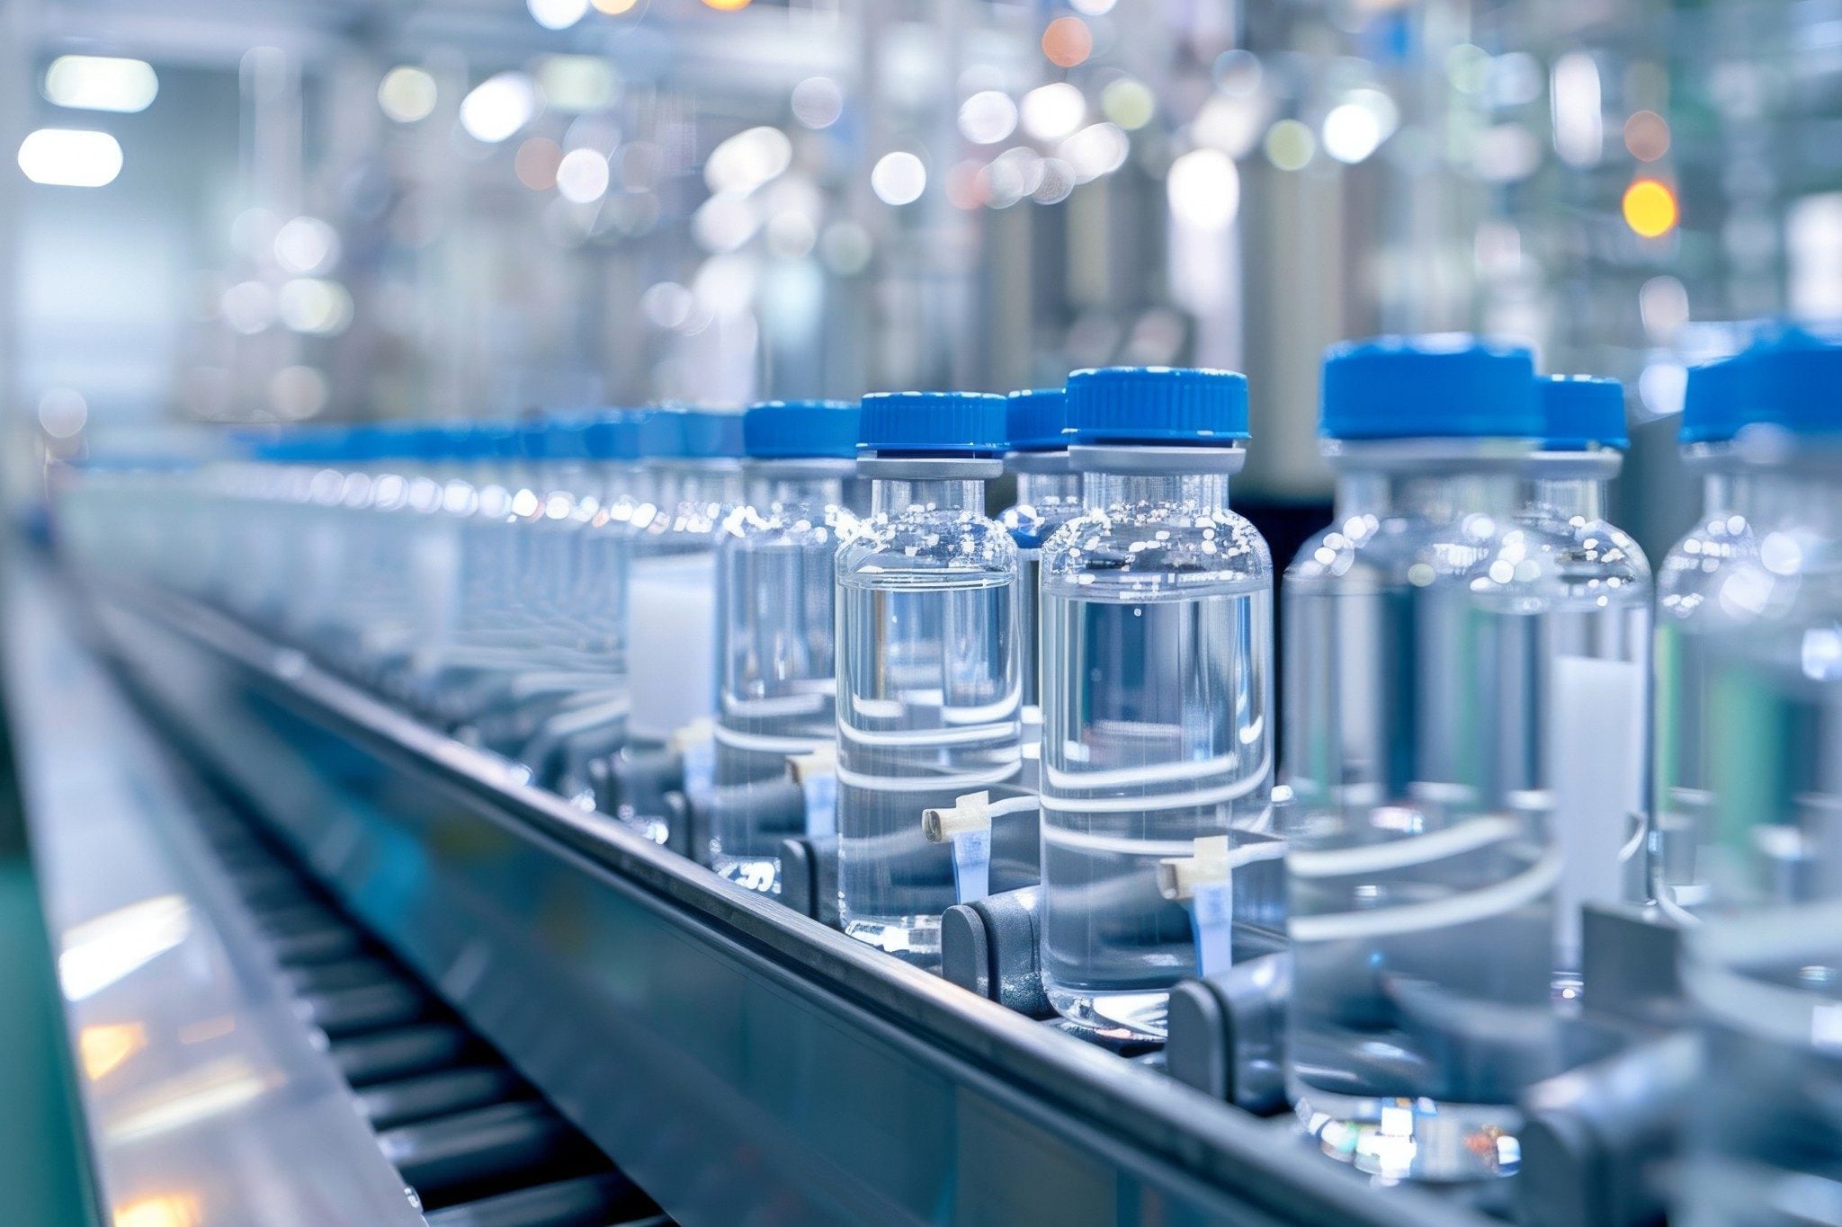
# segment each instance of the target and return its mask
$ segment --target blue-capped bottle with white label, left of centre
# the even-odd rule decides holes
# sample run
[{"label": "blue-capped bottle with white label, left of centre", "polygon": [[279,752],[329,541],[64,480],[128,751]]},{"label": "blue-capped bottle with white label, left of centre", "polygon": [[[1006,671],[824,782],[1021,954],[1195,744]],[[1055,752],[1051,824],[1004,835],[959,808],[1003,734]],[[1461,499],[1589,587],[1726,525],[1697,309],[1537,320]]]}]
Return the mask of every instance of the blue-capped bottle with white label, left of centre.
[{"label": "blue-capped bottle with white label, left of centre", "polygon": [[[742,416],[654,414],[654,502],[632,524],[626,600],[626,721],[632,758],[717,714],[717,533],[742,499]],[[669,430],[676,429],[676,438]],[[663,789],[623,795],[617,817],[669,835]]]}]

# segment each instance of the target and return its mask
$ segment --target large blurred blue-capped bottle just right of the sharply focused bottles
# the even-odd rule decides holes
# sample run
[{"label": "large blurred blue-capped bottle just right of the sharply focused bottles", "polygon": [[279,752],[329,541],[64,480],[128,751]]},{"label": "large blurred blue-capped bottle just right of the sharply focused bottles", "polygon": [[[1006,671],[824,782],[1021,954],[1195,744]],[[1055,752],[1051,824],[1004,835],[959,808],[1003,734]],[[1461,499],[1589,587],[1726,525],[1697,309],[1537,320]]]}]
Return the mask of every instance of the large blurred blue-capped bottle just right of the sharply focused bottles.
[{"label": "large blurred blue-capped bottle just right of the sharply focused bottles", "polygon": [[1363,1170],[1514,1172],[1516,1098],[1558,1071],[1542,734],[1566,543],[1518,519],[1531,355],[1334,346],[1321,429],[1334,522],[1282,587],[1288,1089]]}]

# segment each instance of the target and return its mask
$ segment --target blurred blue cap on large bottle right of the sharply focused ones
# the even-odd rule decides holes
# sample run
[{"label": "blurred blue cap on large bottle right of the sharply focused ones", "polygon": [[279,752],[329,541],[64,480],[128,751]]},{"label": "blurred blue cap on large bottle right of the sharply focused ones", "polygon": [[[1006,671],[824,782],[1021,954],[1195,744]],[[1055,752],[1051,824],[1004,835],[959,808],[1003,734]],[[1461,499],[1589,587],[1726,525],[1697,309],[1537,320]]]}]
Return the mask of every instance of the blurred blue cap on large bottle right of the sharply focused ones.
[{"label": "blurred blue cap on large bottle right of the sharply focused ones", "polygon": [[1534,355],[1468,333],[1330,346],[1321,414],[1334,440],[1542,436]]}]

